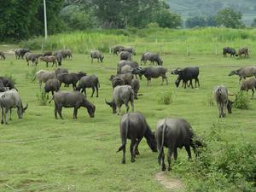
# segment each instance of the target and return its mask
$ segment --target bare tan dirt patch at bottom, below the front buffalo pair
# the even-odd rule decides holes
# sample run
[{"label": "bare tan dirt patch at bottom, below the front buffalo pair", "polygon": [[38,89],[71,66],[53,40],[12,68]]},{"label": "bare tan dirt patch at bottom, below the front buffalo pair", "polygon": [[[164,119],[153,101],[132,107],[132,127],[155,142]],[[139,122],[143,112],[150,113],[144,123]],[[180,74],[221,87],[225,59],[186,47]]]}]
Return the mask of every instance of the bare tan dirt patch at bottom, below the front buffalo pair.
[{"label": "bare tan dirt patch at bottom, below the front buffalo pair", "polygon": [[183,183],[177,178],[166,176],[166,172],[158,172],[154,176],[155,180],[163,185],[168,191],[180,192],[184,191]]}]

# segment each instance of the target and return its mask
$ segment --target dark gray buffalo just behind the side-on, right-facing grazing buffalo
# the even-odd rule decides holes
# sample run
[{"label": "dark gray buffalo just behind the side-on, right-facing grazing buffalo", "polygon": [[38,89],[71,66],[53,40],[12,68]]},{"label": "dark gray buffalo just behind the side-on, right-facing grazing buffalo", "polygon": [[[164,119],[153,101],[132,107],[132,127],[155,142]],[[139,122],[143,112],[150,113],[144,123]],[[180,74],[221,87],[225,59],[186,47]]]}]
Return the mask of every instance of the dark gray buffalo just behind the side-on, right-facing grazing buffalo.
[{"label": "dark gray buffalo just behind the side-on, right-facing grazing buffalo", "polygon": [[99,79],[96,77],[96,75],[90,75],[90,76],[84,76],[79,80],[79,85],[77,87],[77,90],[82,90],[81,92],[84,91],[84,95],[86,96],[86,88],[92,89],[91,96],[93,96],[95,90],[96,90],[96,97],[99,96],[99,87],[100,87],[100,82]]}]

